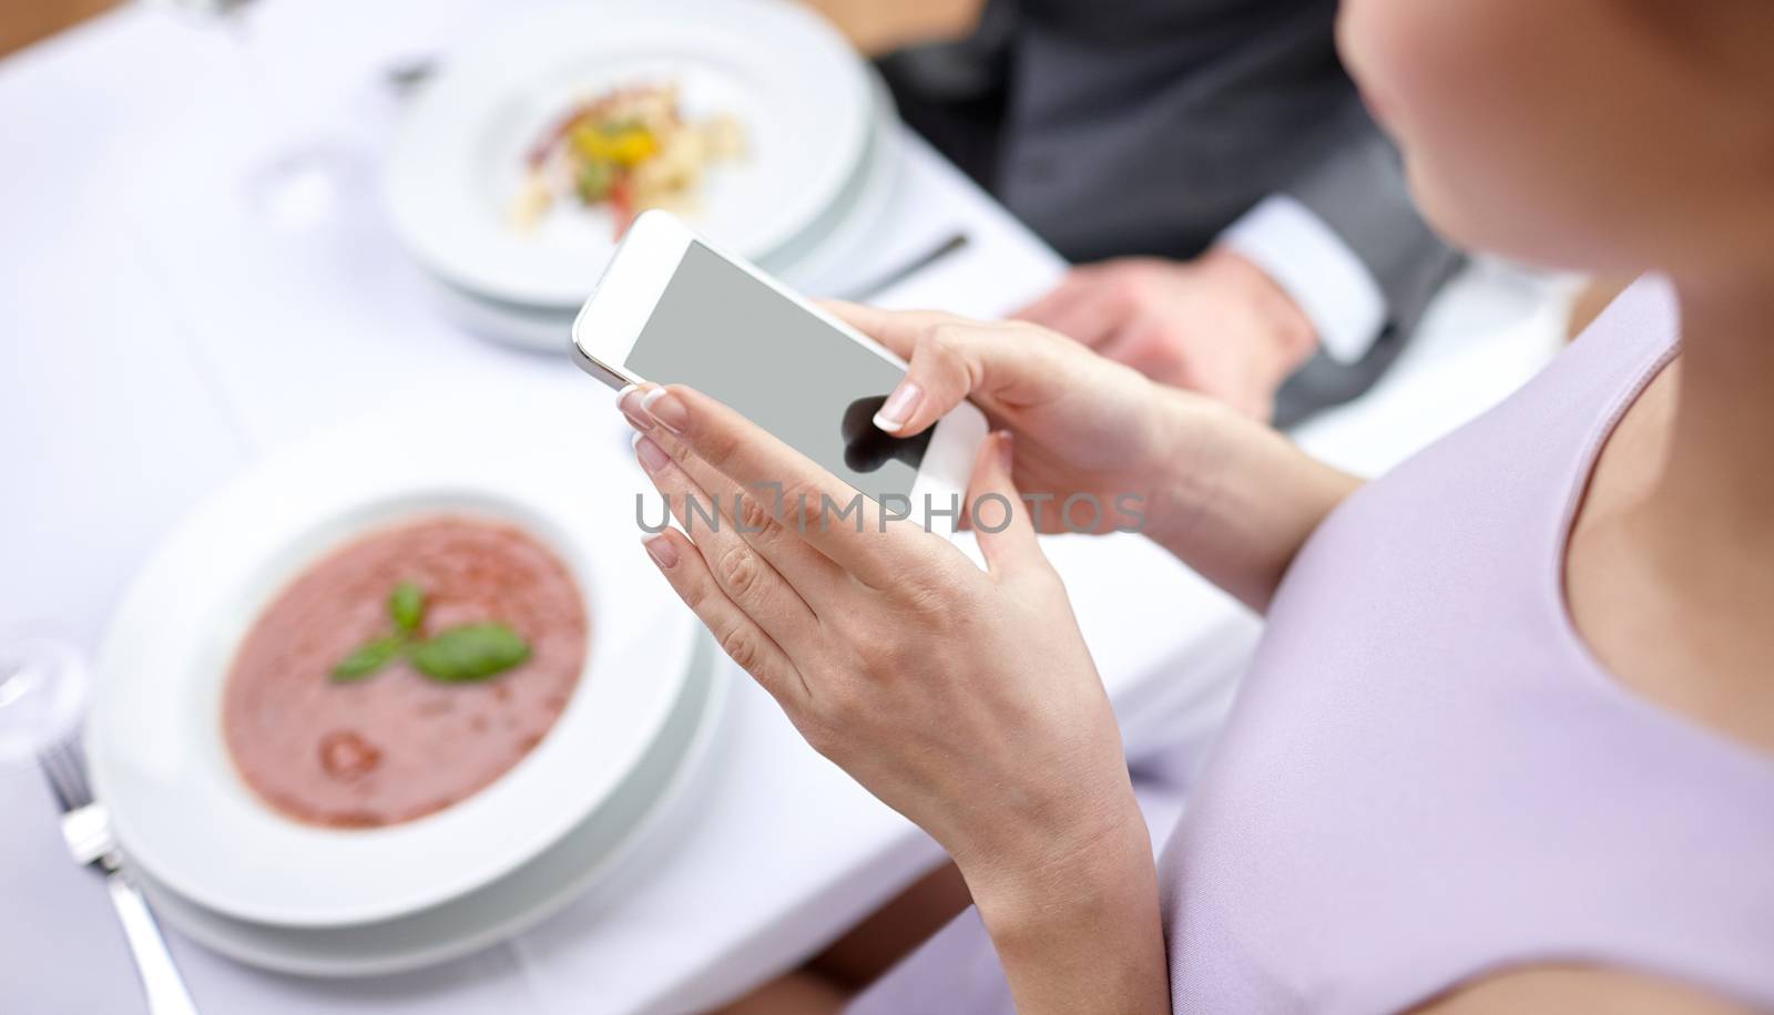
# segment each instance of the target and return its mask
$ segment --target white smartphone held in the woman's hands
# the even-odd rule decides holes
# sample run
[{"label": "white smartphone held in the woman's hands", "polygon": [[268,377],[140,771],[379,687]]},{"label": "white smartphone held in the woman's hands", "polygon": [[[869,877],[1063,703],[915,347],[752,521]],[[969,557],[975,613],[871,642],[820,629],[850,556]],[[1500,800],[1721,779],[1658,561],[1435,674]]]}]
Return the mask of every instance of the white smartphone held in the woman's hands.
[{"label": "white smartphone held in the woman's hands", "polygon": [[[685,383],[823,465],[889,516],[953,532],[986,419],[962,403],[919,437],[871,419],[905,360],[665,211],[640,215],[573,321],[591,376]],[[843,523],[850,523],[844,520]]]}]

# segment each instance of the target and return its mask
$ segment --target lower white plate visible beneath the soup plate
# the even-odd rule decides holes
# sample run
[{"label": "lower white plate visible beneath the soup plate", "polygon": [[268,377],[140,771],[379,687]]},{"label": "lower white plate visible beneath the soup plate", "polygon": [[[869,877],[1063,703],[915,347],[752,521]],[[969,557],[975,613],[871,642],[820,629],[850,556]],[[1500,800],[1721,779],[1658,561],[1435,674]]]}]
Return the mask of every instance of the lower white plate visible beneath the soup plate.
[{"label": "lower white plate visible beneath the soup plate", "polygon": [[[381,976],[467,955],[541,923],[624,862],[656,857],[694,818],[733,671],[699,635],[679,708],[648,759],[580,827],[529,864],[467,896],[401,919],[286,928],[208,910],[138,875],[161,919],[231,958],[298,976]],[[614,891],[614,889],[612,889]]]}]

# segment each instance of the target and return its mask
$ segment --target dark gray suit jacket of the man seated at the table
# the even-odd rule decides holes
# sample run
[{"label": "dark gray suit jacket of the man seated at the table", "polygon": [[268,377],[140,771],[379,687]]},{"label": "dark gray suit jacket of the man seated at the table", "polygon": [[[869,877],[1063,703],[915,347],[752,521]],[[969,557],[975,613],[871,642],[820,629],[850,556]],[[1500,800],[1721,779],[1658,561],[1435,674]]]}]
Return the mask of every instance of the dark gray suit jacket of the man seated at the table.
[{"label": "dark gray suit jacket of the man seated at the table", "polygon": [[1276,192],[1311,208],[1387,325],[1361,362],[1288,382],[1288,422],[1366,390],[1460,264],[1338,62],[1334,18],[1334,0],[990,0],[972,39],[882,69],[907,121],[1073,261],[1192,257]]}]

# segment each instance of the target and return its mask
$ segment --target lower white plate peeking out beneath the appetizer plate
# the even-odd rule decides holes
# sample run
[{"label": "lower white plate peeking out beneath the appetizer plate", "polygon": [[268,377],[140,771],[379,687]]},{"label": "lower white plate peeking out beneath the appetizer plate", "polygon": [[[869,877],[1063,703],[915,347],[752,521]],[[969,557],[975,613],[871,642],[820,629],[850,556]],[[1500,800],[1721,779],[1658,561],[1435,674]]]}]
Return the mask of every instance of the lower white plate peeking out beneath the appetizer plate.
[{"label": "lower white plate peeking out beneath the appetizer plate", "polygon": [[[866,257],[864,245],[882,215],[887,213],[894,185],[899,181],[899,119],[894,114],[887,85],[878,82],[878,92],[867,158],[853,183],[846,185],[844,195],[834,209],[836,215],[821,218],[809,227],[809,236],[789,241],[761,261],[766,271],[789,286],[805,287],[821,282],[841,271],[846,259]],[[552,355],[559,355],[571,341],[577,307],[507,303],[477,296],[435,275],[426,275],[426,280],[431,282],[431,298],[436,300],[438,309],[483,339]]]}]

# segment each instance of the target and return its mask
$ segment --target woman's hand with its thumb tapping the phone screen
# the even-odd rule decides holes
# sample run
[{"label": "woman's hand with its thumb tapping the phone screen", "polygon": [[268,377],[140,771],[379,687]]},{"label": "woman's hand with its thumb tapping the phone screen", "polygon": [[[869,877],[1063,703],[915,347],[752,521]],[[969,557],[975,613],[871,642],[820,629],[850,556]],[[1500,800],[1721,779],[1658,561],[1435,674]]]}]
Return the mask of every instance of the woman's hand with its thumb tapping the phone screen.
[{"label": "woman's hand with its thumb tapping the phone screen", "polygon": [[1017,435],[1017,483],[1040,531],[1144,532],[1256,610],[1357,486],[1268,426],[1047,328],[827,309],[910,362],[876,426],[910,437],[970,399]]}]

